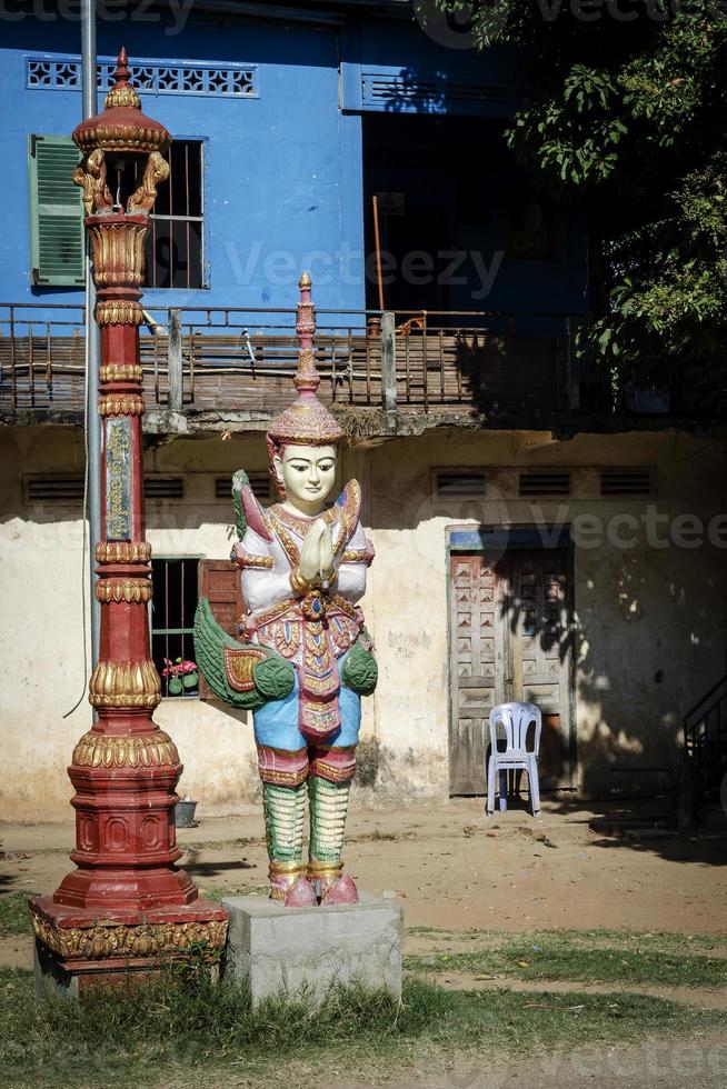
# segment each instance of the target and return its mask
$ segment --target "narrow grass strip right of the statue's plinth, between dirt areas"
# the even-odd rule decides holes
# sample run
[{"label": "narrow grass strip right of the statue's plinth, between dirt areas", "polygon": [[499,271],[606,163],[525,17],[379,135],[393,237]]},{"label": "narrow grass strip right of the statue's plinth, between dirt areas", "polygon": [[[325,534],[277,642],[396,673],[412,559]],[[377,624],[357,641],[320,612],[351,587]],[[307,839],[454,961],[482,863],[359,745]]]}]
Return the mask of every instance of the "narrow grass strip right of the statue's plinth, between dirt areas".
[{"label": "narrow grass strip right of the statue's plinth, between dirt areas", "polygon": [[[470,939],[424,933],[436,941]],[[572,982],[665,985],[670,987],[720,987],[727,983],[727,959],[715,953],[721,942],[711,936],[687,941],[681,935],[635,935],[627,931],[548,931],[528,936],[482,935],[481,946],[407,958],[414,971],[468,972],[495,979],[559,980]]]}]

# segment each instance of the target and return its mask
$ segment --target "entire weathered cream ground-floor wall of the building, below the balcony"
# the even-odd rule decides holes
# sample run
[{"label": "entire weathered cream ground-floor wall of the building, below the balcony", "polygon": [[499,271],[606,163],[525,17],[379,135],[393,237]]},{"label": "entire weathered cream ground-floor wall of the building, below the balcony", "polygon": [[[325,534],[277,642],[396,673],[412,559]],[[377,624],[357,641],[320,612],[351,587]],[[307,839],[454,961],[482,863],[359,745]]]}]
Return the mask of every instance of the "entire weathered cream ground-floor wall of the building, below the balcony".
[{"label": "entire weathered cream ground-floor wall of the building, below the balcony", "polygon": [[[378,772],[376,796],[447,792],[446,539],[448,527],[468,524],[575,524],[578,786],[608,793],[668,779],[638,769],[674,765],[683,715],[726,667],[725,550],[707,539],[710,520],[727,510],[725,457],[724,443],[674,433],[554,442],[547,433],[437,432],[349,451],[343,476],[361,480],[377,549],[364,605],[380,682],[365,701],[361,750],[367,771]],[[4,819],[68,816],[66,767],[91,722],[86,698],[62,718],[83,689],[80,510],[27,507],[21,483],[22,473],[78,472],[82,459],[71,429],[0,431]],[[609,464],[654,467],[658,494],[601,500],[595,467]],[[215,499],[215,476],[240,466],[265,468],[261,437],[180,439],[149,452],[149,471],[187,476],[183,501],[148,504],[158,555],[229,555],[231,511]],[[488,469],[481,507],[432,499],[432,469],[452,466]],[[534,509],[514,498],[517,467],[548,466],[571,467],[571,499]],[[701,543],[696,523],[680,516],[701,520]],[[600,521],[600,536],[587,517]],[[724,518],[711,530],[727,543]],[[688,547],[661,547],[669,534]],[[179,747],[181,789],[206,812],[257,803],[247,716],[187,698],[162,701],[155,717]]]}]

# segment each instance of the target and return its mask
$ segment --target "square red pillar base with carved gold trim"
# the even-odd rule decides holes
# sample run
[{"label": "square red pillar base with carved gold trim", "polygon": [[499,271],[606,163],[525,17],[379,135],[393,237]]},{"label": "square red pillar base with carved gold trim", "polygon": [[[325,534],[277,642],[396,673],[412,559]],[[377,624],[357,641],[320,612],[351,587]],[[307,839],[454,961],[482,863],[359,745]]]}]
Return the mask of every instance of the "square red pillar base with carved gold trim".
[{"label": "square red pillar base with carved gold trim", "polygon": [[89,911],[33,897],[36,989],[69,997],[94,983],[129,983],[197,953],[218,963],[227,911],[210,900],[148,910]]}]

